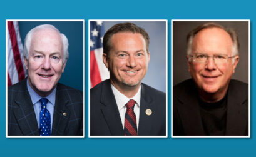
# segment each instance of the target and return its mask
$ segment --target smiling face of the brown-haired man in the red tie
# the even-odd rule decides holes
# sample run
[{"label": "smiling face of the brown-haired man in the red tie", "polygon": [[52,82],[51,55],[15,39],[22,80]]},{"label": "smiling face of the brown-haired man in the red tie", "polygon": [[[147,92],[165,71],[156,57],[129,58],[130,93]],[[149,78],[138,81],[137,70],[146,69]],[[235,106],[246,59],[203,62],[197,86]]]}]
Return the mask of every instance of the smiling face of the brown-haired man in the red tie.
[{"label": "smiling face of the brown-haired man in the red tie", "polygon": [[103,54],[114,86],[139,86],[148,69],[150,53],[140,33],[121,32],[111,37],[111,50]]}]

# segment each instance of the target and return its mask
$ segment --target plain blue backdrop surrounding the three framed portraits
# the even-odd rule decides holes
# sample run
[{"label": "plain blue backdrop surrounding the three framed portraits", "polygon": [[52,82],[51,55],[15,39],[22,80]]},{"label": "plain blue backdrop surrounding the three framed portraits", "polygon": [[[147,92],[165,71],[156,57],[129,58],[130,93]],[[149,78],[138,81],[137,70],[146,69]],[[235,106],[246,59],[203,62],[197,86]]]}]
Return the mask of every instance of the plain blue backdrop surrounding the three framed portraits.
[{"label": "plain blue backdrop surrounding the three framed portraits", "polygon": [[[1,156],[255,156],[256,68],[255,3],[253,1],[1,1],[0,5],[0,150]],[[168,19],[168,135],[171,134],[171,19],[251,19],[251,138],[5,138],[6,119],[6,19]],[[88,31],[86,53],[88,53]],[[86,54],[86,61],[88,60]],[[88,63],[86,63],[87,65]],[[85,78],[88,83],[88,69]],[[86,86],[86,89],[88,87]],[[88,98],[88,91],[85,92]],[[88,100],[86,99],[86,118]],[[86,136],[88,135],[86,119]],[[46,146],[46,148],[42,148]]]}]

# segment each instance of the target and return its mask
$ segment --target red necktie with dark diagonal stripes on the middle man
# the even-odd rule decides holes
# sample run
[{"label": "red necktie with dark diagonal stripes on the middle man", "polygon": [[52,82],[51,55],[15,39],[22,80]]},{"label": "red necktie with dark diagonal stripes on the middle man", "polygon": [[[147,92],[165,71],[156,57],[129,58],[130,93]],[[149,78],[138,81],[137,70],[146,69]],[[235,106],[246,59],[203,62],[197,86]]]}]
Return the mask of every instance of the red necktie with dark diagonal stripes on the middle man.
[{"label": "red necktie with dark diagonal stripes on the middle man", "polygon": [[130,99],[126,106],[125,113],[125,136],[136,136],[137,135],[137,122],[136,115],[133,111],[136,101]]}]

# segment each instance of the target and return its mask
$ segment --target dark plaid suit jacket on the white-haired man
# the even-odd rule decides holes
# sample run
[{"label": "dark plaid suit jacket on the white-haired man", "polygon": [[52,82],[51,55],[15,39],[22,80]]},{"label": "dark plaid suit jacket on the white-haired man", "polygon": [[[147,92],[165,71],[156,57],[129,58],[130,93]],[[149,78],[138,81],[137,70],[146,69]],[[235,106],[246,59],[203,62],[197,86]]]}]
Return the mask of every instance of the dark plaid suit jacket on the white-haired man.
[{"label": "dark plaid suit jacket on the white-haired man", "polygon": [[[8,88],[8,136],[40,135],[26,80]],[[83,93],[81,91],[57,84],[51,135],[83,136]]]}]

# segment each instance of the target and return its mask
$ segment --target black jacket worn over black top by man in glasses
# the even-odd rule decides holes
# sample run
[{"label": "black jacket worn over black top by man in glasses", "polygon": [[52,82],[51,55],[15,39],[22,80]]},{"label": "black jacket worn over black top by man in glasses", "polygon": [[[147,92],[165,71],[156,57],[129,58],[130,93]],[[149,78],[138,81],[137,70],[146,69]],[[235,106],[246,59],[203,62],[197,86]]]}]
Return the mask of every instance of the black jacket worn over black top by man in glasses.
[{"label": "black jacket worn over black top by man in glasses", "polygon": [[[197,87],[192,79],[173,87],[173,135],[206,135],[203,130]],[[228,136],[248,136],[248,84],[231,80],[227,91]]]}]

